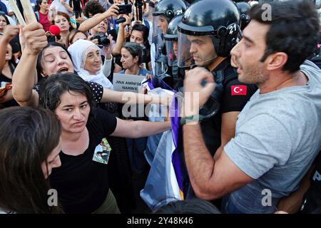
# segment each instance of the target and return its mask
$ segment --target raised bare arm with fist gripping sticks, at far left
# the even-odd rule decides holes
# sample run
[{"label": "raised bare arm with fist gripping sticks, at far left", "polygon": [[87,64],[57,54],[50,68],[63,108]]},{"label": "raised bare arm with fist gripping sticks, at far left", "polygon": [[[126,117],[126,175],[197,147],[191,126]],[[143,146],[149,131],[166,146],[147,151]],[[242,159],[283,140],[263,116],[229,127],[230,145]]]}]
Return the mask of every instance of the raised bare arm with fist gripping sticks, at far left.
[{"label": "raised bare arm with fist gripping sticks, at far left", "polygon": [[21,106],[36,107],[39,95],[34,88],[36,61],[39,52],[48,44],[44,29],[39,23],[31,23],[20,29],[25,48],[12,77],[12,94]]}]

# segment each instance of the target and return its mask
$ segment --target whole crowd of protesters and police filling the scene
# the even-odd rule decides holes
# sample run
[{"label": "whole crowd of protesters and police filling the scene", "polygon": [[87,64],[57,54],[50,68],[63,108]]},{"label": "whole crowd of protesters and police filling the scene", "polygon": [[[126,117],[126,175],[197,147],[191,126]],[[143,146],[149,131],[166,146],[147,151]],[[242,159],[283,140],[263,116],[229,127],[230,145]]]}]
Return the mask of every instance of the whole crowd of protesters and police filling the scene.
[{"label": "whole crowd of protesters and police filling the scene", "polygon": [[[318,1],[0,2],[0,214],[321,212]],[[133,113],[178,92],[180,128]],[[140,208],[168,130],[182,200]]]}]

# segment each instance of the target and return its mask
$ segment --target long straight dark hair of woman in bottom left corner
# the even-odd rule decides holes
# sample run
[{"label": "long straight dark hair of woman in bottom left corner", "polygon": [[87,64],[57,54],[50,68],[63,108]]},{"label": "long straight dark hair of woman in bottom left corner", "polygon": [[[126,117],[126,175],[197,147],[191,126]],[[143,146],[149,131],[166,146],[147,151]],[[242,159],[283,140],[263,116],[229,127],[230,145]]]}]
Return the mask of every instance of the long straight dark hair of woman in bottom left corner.
[{"label": "long straight dark hair of woman in bottom left corner", "polygon": [[50,110],[0,110],[0,208],[16,213],[56,213],[49,207],[49,181],[41,169],[58,145],[61,125]]}]

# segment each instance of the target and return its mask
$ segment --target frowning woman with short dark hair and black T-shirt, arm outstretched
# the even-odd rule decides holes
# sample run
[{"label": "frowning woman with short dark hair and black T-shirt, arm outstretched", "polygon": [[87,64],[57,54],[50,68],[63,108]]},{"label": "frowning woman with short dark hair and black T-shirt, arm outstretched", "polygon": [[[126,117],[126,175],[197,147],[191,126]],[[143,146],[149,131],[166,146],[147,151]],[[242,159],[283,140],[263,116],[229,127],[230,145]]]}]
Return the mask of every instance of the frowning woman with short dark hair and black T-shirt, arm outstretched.
[{"label": "frowning woman with short dark hair and black T-shirt, arm outstretched", "polygon": [[119,213],[109,189],[108,160],[98,152],[113,151],[110,136],[139,138],[161,133],[170,123],[126,121],[92,107],[91,89],[74,73],[50,76],[40,90],[40,105],[61,122],[61,167],[51,174],[66,213]]}]

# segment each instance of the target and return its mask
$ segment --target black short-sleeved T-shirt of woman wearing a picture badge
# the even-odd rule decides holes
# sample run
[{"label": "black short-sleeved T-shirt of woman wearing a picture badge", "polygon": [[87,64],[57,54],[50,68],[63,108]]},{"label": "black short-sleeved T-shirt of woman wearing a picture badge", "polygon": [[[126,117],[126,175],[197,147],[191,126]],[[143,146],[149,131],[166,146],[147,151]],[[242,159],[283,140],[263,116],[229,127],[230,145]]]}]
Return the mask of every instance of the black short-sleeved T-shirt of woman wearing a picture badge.
[{"label": "black short-sleeved T-shirt of woman wearing a picture badge", "polygon": [[[52,170],[49,180],[58,192],[63,211],[66,213],[91,213],[106,199],[108,165],[93,160],[93,153],[116,129],[117,119],[105,110],[96,108],[89,115],[88,149],[81,155],[66,155],[60,152],[61,167]],[[111,148],[113,149],[113,148]],[[111,156],[113,150],[111,150]]]}]

